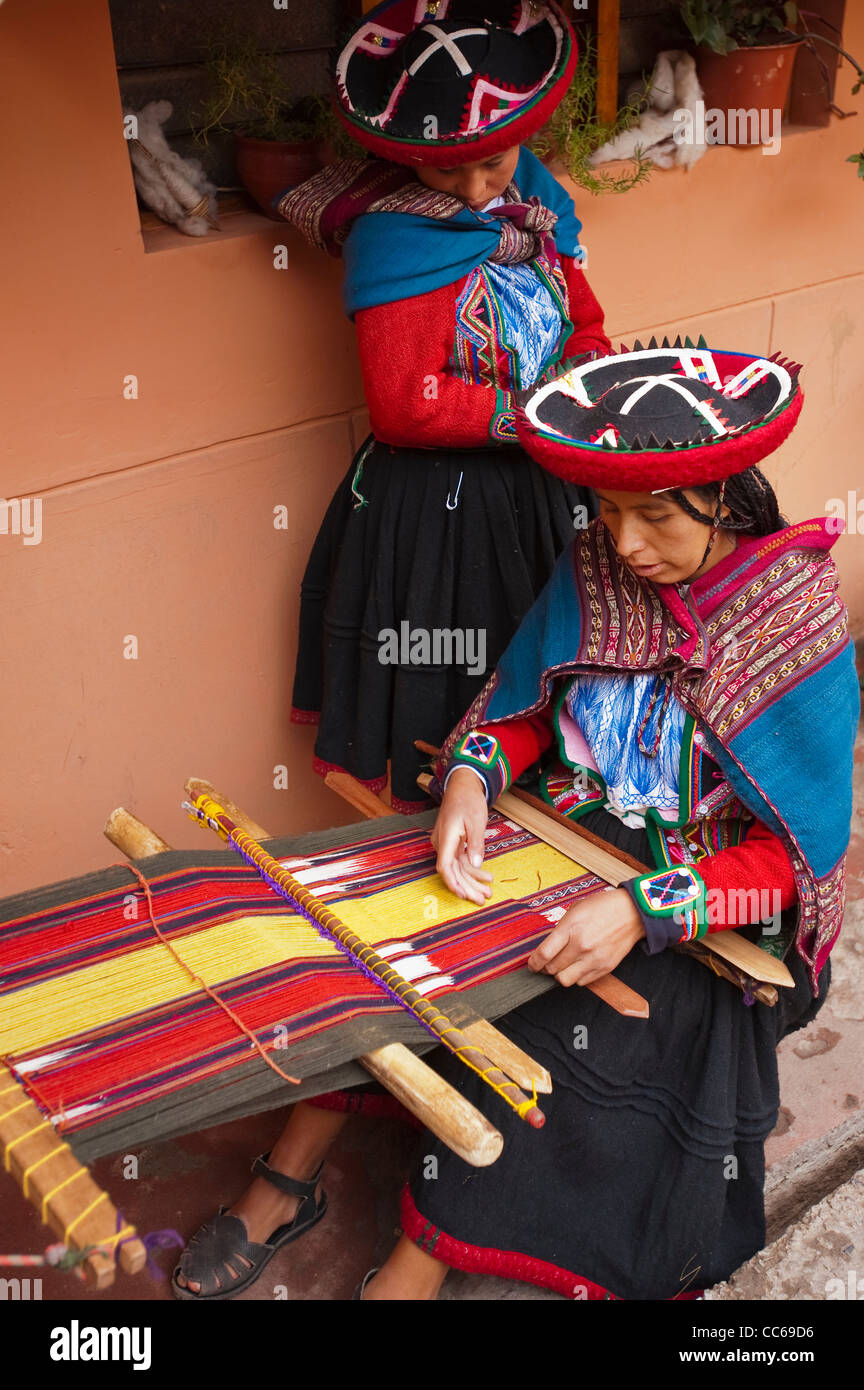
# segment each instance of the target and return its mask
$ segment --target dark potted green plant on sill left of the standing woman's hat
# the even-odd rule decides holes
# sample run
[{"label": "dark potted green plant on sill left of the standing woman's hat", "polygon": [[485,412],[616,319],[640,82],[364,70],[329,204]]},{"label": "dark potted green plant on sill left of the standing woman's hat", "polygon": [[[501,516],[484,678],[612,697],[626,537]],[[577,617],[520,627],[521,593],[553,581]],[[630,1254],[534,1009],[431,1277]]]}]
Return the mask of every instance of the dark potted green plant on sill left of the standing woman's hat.
[{"label": "dark potted green plant on sill left of the standing woman's hat", "polygon": [[206,145],[214,132],[233,135],[240,182],[261,211],[278,221],[272,199],[328,161],[329,106],[322,97],[292,100],[276,56],[242,29],[214,38],[204,65],[210,93],[196,136]]}]

